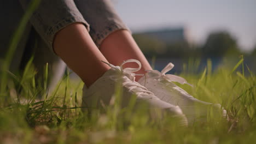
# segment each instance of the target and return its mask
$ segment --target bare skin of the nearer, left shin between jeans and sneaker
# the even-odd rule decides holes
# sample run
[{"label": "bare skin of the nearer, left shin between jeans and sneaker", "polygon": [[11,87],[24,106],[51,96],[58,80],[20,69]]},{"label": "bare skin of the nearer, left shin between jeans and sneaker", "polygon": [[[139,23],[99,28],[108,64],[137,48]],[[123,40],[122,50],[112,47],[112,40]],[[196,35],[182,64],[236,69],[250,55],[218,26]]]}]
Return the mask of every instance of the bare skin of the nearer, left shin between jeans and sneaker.
[{"label": "bare skin of the nearer, left shin between jeans and sneaker", "polygon": [[73,23],[55,35],[54,51],[89,87],[110,67],[82,23]]}]

